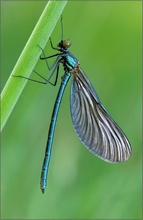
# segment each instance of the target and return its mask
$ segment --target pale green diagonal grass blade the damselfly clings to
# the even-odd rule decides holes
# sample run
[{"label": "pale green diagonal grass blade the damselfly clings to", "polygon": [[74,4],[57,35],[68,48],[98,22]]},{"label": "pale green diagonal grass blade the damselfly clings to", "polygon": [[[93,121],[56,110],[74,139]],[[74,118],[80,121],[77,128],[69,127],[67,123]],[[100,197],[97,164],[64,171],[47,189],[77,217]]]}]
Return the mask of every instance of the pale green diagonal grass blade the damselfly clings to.
[{"label": "pale green diagonal grass blade the damselfly clings to", "polygon": [[1,93],[1,130],[10,116],[27,80],[12,77],[21,75],[29,77],[34,69],[41,50],[45,47],[67,1],[49,1],[36,27],[34,28],[25,48],[23,49],[2,93]]}]

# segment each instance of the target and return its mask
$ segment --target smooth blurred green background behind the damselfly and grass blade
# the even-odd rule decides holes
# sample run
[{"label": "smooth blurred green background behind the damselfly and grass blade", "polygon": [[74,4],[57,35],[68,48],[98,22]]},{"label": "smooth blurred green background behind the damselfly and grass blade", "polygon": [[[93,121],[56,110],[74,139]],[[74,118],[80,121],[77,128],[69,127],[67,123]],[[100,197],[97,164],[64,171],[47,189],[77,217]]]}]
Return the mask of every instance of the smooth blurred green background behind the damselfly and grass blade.
[{"label": "smooth blurred green background behind the damselfly and grass blade", "polygon": [[[1,2],[1,89],[46,3]],[[40,172],[60,77],[56,87],[28,82],[2,133],[2,219],[141,219],[141,4],[69,1],[63,12],[70,51],[129,138],[130,160],[109,164],[82,145],[71,122],[69,83],[42,195]],[[55,45],[60,27],[59,21],[52,34]],[[45,53],[54,53],[49,43]],[[44,62],[35,70],[48,77]]]}]

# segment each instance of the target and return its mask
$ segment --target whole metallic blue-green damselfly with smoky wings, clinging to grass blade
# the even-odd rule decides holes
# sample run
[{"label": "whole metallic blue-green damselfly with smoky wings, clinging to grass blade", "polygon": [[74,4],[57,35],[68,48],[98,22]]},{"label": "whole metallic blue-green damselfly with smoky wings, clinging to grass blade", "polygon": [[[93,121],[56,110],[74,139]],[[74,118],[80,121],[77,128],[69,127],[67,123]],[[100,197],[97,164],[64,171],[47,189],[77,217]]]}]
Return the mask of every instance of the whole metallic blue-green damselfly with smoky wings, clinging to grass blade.
[{"label": "whole metallic blue-green damselfly with smoky wings, clinging to grass blade", "polygon": [[[40,57],[40,59],[45,60],[48,69],[52,70],[49,79],[46,80],[36,71],[34,72],[38,74],[38,76],[40,76],[44,82],[29,79],[43,84],[52,84],[50,80],[53,74],[56,72],[56,79],[55,83],[53,84],[56,85],[58,80],[59,65],[63,65],[64,75],[62,76],[61,85],[51,117],[51,124],[41,172],[40,187],[42,193],[44,193],[47,185],[47,174],[57,115],[65,87],[71,76],[71,117],[75,131],[85,147],[104,161],[113,163],[126,161],[129,159],[131,154],[131,146],[127,137],[101,104],[94,87],[84,71],[81,69],[78,60],[69,52],[68,48],[71,46],[71,42],[63,39],[62,18],[61,28],[62,38],[57,47],[53,46],[50,39],[52,49],[58,52],[52,56],[45,56],[45,53],[41,48],[43,57]],[[56,61],[52,67],[49,68],[47,59],[52,57],[56,57]]]}]

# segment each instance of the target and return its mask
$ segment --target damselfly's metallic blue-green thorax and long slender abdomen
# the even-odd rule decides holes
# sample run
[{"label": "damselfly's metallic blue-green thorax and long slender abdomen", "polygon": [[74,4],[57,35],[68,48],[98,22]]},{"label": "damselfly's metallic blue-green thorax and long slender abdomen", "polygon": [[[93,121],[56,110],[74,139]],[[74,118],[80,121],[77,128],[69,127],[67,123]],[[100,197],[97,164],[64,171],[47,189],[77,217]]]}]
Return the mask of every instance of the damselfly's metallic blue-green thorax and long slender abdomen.
[{"label": "damselfly's metallic blue-green thorax and long slender abdomen", "polygon": [[[69,41],[67,41],[67,44],[68,43],[69,43]],[[62,42],[62,44],[63,44],[63,42]],[[46,150],[45,150],[45,157],[44,157],[44,162],[43,162],[43,166],[42,166],[41,181],[40,181],[40,188],[43,193],[44,193],[46,185],[47,185],[47,174],[48,174],[54,131],[55,131],[57,116],[58,116],[58,112],[59,112],[59,108],[60,108],[60,103],[61,103],[61,100],[63,97],[65,87],[71,77],[71,72],[75,68],[75,66],[78,65],[78,60],[69,53],[67,48],[64,48],[64,50],[62,49],[61,52],[62,52],[62,54],[57,55],[57,56],[59,56],[58,63],[63,64],[65,74],[62,77],[61,86],[60,86],[58,94],[57,94],[57,98],[55,101],[55,105],[54,105],[53,113],[52,113],[52,117],[51,117],[49,133],[48,133],[48,140],[47,140],[47,145],[46,145]]]}]

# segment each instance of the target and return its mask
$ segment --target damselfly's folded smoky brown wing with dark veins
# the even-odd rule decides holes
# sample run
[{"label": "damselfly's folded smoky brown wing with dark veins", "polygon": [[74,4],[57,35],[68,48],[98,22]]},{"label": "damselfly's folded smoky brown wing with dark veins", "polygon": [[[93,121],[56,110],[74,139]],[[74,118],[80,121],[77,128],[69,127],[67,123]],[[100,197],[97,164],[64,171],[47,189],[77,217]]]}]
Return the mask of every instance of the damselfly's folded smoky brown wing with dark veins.
[{"label": "damselfly's folded smoky brown wing with dark veins", "polygon": [[71,116],[79,138],[88,150],[105,161],[128,160],[131,147],[127,137],[103,107],[79,66],[72,73]]}]

